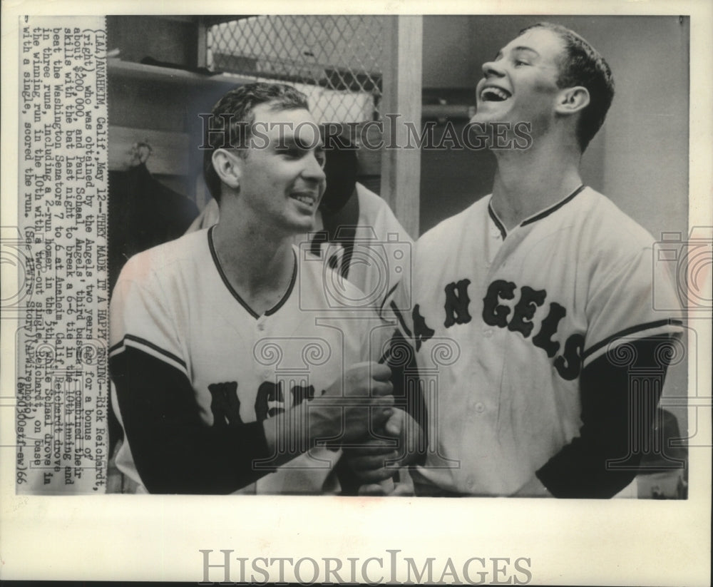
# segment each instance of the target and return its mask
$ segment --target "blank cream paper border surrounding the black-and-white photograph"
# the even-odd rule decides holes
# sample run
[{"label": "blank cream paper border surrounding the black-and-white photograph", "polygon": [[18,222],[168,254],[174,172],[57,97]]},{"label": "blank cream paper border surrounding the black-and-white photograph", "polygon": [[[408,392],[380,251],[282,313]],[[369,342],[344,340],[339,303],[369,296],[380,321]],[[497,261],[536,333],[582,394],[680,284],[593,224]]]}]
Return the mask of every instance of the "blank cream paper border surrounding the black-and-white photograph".
[{"label": "blank cream paper border surrounding the black-and-white photograph", "polygon": [[[2,215],[16,218],[18,17],[23,14],[191,14],[195,3],[24,2],[4,4],[2,18]],[[334,4],[339,13],[340,5]],[[528,5],[533,14],[688,14],[690,43],[689,226],[707,225],[713,160],[713,6],[682,2],[559,1]],[[252,6],[251,6],[252,7]],[[201,14],[222,14],[227,3],[207,1]],[[231,5],[231,9],[240,6]],[[407,9],[429,14],[432,3],[366,2],[359,12]],[[262,14],[324,13],[324,4],[266,1]],[[234,11],[234,10],[231,10]],[[496,12],[494,12],[496,11]],[[523,14],[518,3],[451,2],[437,14]],[[14,384],[14,325],[2,324],[0,395]],[[711,322],[695,323],[709,344]],[[10,332],[10,336],[9,336]],[[699,348],[699,360],[710,357]],[[710,364],[699,368],[710,389]],[[693,377],[689,379],[694,380]],[[707,394],[710,395],[709,393]],[[689,408],[698,433],[711,437],[709,410]],[[0,410],[0,445],[12,444],[14,409]],[[9,451],[9,449],[2,449]],[[0,576],[4,579],[201,581],[201,549],[232,556],[388,557],[416,561],[530,558],[533,584],[707,585],[710,571],[711,469],[709,448],[691,451],[685,501],[426,499],[230,496],[22,496],[15,494],[14,459],[0,459]],[[230,501],[229,501],[230,500]],[[456,563],[456,567],[458,563]],[[215,579],[214,579],[215,580]]]}]

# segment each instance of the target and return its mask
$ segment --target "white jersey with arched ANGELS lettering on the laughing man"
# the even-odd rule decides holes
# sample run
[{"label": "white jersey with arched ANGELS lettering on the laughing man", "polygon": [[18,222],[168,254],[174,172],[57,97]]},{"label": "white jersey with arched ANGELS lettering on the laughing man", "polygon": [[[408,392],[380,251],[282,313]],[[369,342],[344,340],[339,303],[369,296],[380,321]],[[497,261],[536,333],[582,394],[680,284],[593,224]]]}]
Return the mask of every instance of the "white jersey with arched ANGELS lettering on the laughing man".
[{"label": "white jersey with arched ANGELS lettering on the laughing man", "polygon": [[[652,309],[652,237],[580,188],[506,232],[488,195],[416,243],[394,304],[416,348],[429,455],[414,479],[509,495],[580,434],[579,377],[612,345],[680,330]],[[657,293],[676,307],[667,275]]]}]

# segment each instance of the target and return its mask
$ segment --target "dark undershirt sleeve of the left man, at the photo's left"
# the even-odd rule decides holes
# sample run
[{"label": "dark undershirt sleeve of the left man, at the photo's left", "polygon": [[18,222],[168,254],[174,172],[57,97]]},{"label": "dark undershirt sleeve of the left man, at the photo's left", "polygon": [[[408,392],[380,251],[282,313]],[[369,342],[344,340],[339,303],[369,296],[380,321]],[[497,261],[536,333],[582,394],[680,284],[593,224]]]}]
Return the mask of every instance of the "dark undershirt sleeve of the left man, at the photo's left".
[{"label": "dark undershirt sleeve of the left man, at the photo's left", "polygon": [[229,494],[275,469],[262,422],[208,427],[183,372],[133,347],[109,361],[118,407],[141,481],[150,493]]}]

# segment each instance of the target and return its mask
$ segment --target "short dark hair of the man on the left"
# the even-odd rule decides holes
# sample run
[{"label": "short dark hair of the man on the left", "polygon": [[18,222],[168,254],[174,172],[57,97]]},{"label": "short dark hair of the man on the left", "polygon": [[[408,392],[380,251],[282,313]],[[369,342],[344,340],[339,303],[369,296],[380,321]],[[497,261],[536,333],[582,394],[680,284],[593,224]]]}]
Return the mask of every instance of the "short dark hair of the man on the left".
[{"label": "short dark hair of the man on the left", "polygon": [[270,110],[309,110],[307,96],[284,83],[255,82],[230,90],[213,106],[205,129],[203,144],[203,177],[210,195],[220,202],[220,178],[213,168],[216,149],[237,148],[245,156],[250,140],[250,127],[255,122],[253,109],[270,103]]}]

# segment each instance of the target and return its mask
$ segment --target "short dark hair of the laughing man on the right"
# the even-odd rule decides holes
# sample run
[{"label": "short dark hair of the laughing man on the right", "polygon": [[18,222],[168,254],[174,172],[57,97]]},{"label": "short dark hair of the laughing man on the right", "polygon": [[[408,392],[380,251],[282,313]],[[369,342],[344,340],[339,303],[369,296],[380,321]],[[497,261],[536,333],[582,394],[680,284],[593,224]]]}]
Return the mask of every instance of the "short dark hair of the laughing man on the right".
[{"label": "short dark hair of the laughing man on the right", "polygon": [[589,105],[580,114],[577,123],[577,141],[584,150],[604,123],[614,98],[614,78],[607,62],[587,41],[565,26],[539,22],[520,31],[547,29],[562,39],[565,59],[560,64],[558,86],[572,88],[584,86],[589,91]]}]

